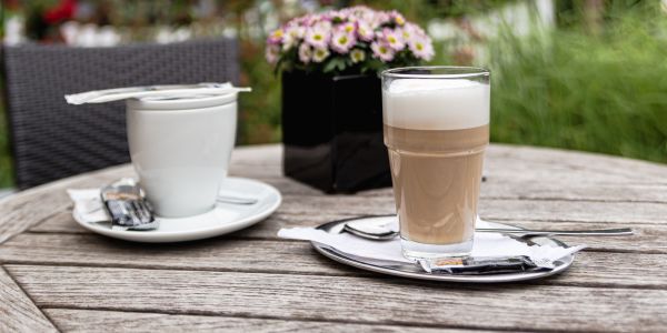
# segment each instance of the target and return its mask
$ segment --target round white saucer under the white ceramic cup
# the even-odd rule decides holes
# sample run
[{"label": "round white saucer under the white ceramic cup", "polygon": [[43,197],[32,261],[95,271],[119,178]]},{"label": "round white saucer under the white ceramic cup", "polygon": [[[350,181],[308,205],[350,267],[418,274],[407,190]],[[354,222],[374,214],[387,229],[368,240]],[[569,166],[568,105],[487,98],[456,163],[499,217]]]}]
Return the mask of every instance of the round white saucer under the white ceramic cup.
[{"label": "round white saucer under the white ceramic cup", "polygon": [[227,178],[220,189],[221,195],[256,198],[253,204],[218,203],[216,209],[190,218],[157,218],[160,226],[151,231],[111,230],[108,223],[83,221],[77,210],[72,210],[79,225],[99,234],[115,239],[146,243],[183,242],[208,239],[248,228],[273,213],[282,196],[276,188],[256,180]]}]

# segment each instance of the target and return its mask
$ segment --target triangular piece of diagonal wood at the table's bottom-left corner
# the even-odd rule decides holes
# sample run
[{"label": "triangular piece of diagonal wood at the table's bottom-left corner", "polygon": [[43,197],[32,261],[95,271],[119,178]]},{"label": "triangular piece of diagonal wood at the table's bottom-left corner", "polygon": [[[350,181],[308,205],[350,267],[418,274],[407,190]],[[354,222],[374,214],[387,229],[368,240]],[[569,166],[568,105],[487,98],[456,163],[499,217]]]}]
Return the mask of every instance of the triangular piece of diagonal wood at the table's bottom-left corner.
[{"label": "triangular piece of diagonal wood at the table's bottom-left corner", "polygon": [[0,332],[58,332],[1,266]]}]

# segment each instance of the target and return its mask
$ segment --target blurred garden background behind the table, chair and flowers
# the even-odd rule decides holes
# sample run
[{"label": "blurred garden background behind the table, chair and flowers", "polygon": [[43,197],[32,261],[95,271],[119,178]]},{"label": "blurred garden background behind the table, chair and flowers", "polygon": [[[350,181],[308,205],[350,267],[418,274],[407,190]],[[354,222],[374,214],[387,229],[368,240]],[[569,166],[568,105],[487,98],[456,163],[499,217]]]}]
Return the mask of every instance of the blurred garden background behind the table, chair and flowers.
[{"label": "blurred garden background behind the table, chair and flowers", "polygon": [[[280,141],[267,34],[295,16],[354,4],[421,24],[432,64],[490,68],[491,141],[667,162],[666,0],[2,0],[0,36],[72,47],[237,37],[241,84],[253,88],[241,99],[239,144],[255,144]],[[0,114],[0,186],[10,186]]]}]

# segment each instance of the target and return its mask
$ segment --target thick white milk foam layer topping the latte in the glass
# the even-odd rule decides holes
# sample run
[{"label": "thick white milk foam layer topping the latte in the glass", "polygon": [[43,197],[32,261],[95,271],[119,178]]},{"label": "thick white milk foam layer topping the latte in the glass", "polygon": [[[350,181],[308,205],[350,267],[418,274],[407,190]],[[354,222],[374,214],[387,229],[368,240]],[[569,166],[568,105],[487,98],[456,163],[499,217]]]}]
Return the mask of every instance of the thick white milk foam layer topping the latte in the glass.
[{"label": "thick white milk foam layer topping the latte in the glass", "polygon": [[461,130],[489,123],[489,84],[465,79],[398,79],[382,91],[385,124]]}]

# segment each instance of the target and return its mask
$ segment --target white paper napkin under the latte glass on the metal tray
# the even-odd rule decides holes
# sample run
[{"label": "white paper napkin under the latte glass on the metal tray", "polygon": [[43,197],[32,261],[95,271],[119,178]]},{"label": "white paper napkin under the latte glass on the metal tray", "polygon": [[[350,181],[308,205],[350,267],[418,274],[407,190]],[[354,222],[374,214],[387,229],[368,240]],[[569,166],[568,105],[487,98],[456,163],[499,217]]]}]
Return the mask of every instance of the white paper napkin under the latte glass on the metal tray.
[{"label": "white paper napkin under the latte glass on the metal tray", "polygon": [[[487,228],[484,221],[478,221],[479,228]],[[397,226],[389,226],[389,229]],[[281,229],[279,238],[313,241],[342,253],[360,256],[371,262],[379,263],[412,263],[401,254],[400,240],[371,241],[355,236],[347,232],[332,234],[313,228]],[[555,246],[528,244],[525,241],[499,233],[475,233],[475,242],[470,256],[474,258],[504,258],[525,255],[530,258],[540,268],[552,269],[554,262],[575,253],[586,245]]]}]

